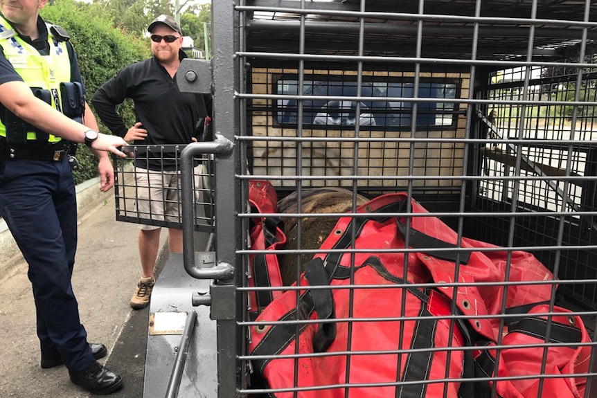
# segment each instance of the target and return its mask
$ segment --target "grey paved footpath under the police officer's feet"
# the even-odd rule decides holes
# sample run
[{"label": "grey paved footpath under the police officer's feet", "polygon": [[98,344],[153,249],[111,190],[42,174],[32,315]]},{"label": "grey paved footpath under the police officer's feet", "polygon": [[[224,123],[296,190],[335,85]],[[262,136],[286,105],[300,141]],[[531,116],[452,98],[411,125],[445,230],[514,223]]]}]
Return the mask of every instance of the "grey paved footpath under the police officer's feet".
[{"label": "grey paved footpath under the police officer's feet", "polygon": [[[89,341],[108,347],[107,357],[100,362],[124,377],[124,388],[109,397],[141,398],[148,308],[132,311],[129,305],[141,272],[137,226],[115,220],[113,192],[97,195],[80,211],[73,290]],[[39,227],[43,228],[42,220]],[[166,231],[161,235],[163,244]],[[161,251],[158,263],[163,264],[167,256],[167,249]],[[27,264],[20,254],[13,257],[0,266],[0,397],[89,396],[71,383],[64,366],[39,367]]]}]

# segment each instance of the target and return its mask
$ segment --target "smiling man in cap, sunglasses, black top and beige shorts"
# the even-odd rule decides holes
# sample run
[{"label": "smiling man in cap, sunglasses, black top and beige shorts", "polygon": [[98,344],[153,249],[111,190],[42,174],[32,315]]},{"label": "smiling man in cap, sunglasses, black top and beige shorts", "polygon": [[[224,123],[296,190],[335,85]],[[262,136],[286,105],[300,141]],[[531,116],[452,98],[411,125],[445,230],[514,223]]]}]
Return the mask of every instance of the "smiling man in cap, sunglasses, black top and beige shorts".
[{"label": "smiling man in cap, sunglasses, black top and beige shorts", "polygon": [[[182,31],[170,15],[160,15],[148,26],[153,57],[118,71],[93,94],[91,102],[102,122],[117,136],[134,145],[188,144],[197,141],[199,110],[192,93],[181,93],[175,79],[183,58]],[[125,98],[134,102],[136,123],[125,126],[116,105]],[[168,162],[170,160],[170,162]],[[139,215],[153,220],[178,217],[179,173],[175,159],[136,159],[136,206]],[[149,188],[152,188],[151,195]],[[158,188],[158,189],[156,189]],[[166,208],[164,208],[166,207]],[[146,307],[155,282],[154,266],[159,250],[159,226],[139,226],[141,279],[132,296],[134,309]],[[182,231],[168,228],[170,253],[182,252]]]}]

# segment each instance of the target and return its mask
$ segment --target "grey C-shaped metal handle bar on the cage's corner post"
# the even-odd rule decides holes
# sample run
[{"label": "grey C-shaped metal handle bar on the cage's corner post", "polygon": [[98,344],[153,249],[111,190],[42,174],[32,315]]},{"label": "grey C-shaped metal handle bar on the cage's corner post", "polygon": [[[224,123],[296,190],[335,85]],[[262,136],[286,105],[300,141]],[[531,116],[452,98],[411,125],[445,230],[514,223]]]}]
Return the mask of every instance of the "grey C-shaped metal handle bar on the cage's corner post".
[{"label": "grey C-shaped metal handle bar on the cage's corner post", "polygon": [[217,280],[233,278],[233,266],[224,262],[211,268],[197,268],[193,239],[193,158],[197,154],[229,156],[233,147],[232,141],[216,133],[214,141],[190,143],[180,153],[183,261],[185,271],[193,278]]}]

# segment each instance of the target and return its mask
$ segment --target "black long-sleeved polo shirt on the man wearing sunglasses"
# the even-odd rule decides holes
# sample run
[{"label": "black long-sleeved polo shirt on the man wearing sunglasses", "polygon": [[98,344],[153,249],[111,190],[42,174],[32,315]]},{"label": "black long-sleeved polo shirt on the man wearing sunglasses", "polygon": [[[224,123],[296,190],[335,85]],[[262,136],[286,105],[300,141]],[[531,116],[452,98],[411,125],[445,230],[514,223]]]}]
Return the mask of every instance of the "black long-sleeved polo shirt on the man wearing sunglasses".
[{"label": "black long-sleeved polo shirt on the man wearing sunglasses", "polygon": [[[186,55],[181,51],[179,57]],[[135,62],[121,69],[116,76],[93,94],[91,102],[102,122],[112,133],[124,137],[130,126],[116,112],[116,105],[125,98],[134,102],[136,121],[143,124],[148,136],[134,145],[188,144],[195,136],[199,120],[197,101],[193,93],[181,93],[175,78],[155,57]],[[146,167],[136,162],[139,167]],[[163,164],[166,170],[172,170]],[[161,165],[150,165],[159,170]]]}]

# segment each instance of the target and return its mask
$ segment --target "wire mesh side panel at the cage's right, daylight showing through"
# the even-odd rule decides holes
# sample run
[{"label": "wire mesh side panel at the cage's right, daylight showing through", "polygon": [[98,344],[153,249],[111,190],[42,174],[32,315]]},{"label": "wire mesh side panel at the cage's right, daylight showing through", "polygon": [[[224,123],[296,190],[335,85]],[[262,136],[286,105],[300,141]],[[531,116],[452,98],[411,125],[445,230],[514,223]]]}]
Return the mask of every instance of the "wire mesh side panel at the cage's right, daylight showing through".
[{"label": "wire mesh side panel at the cage's right, daylight showing through", "polygon": [[[528,217],[513,220],[514,242],[537,246],[537,257],[560,278],[575,281],[560,292],[595,308],[594,250],[558,252],[549,247],[590,246],[597,232],[592,214],[597,149],[592,44],[587,50],[584,59],[579,48],[558,66],[509,69],[489,77],[482,95],[504,104],[488,104],[487,132],[497,141],[481,148],[481,175],[487,179],[479,184],[475,207],[524,212]],[[587,66],[570,67],[574,62]],[[510,103],[523,99],[528,103]],[[571,105],[575,101],[578,105]],[[482,236],[504,244],[507,235],[494,228]]]}]

